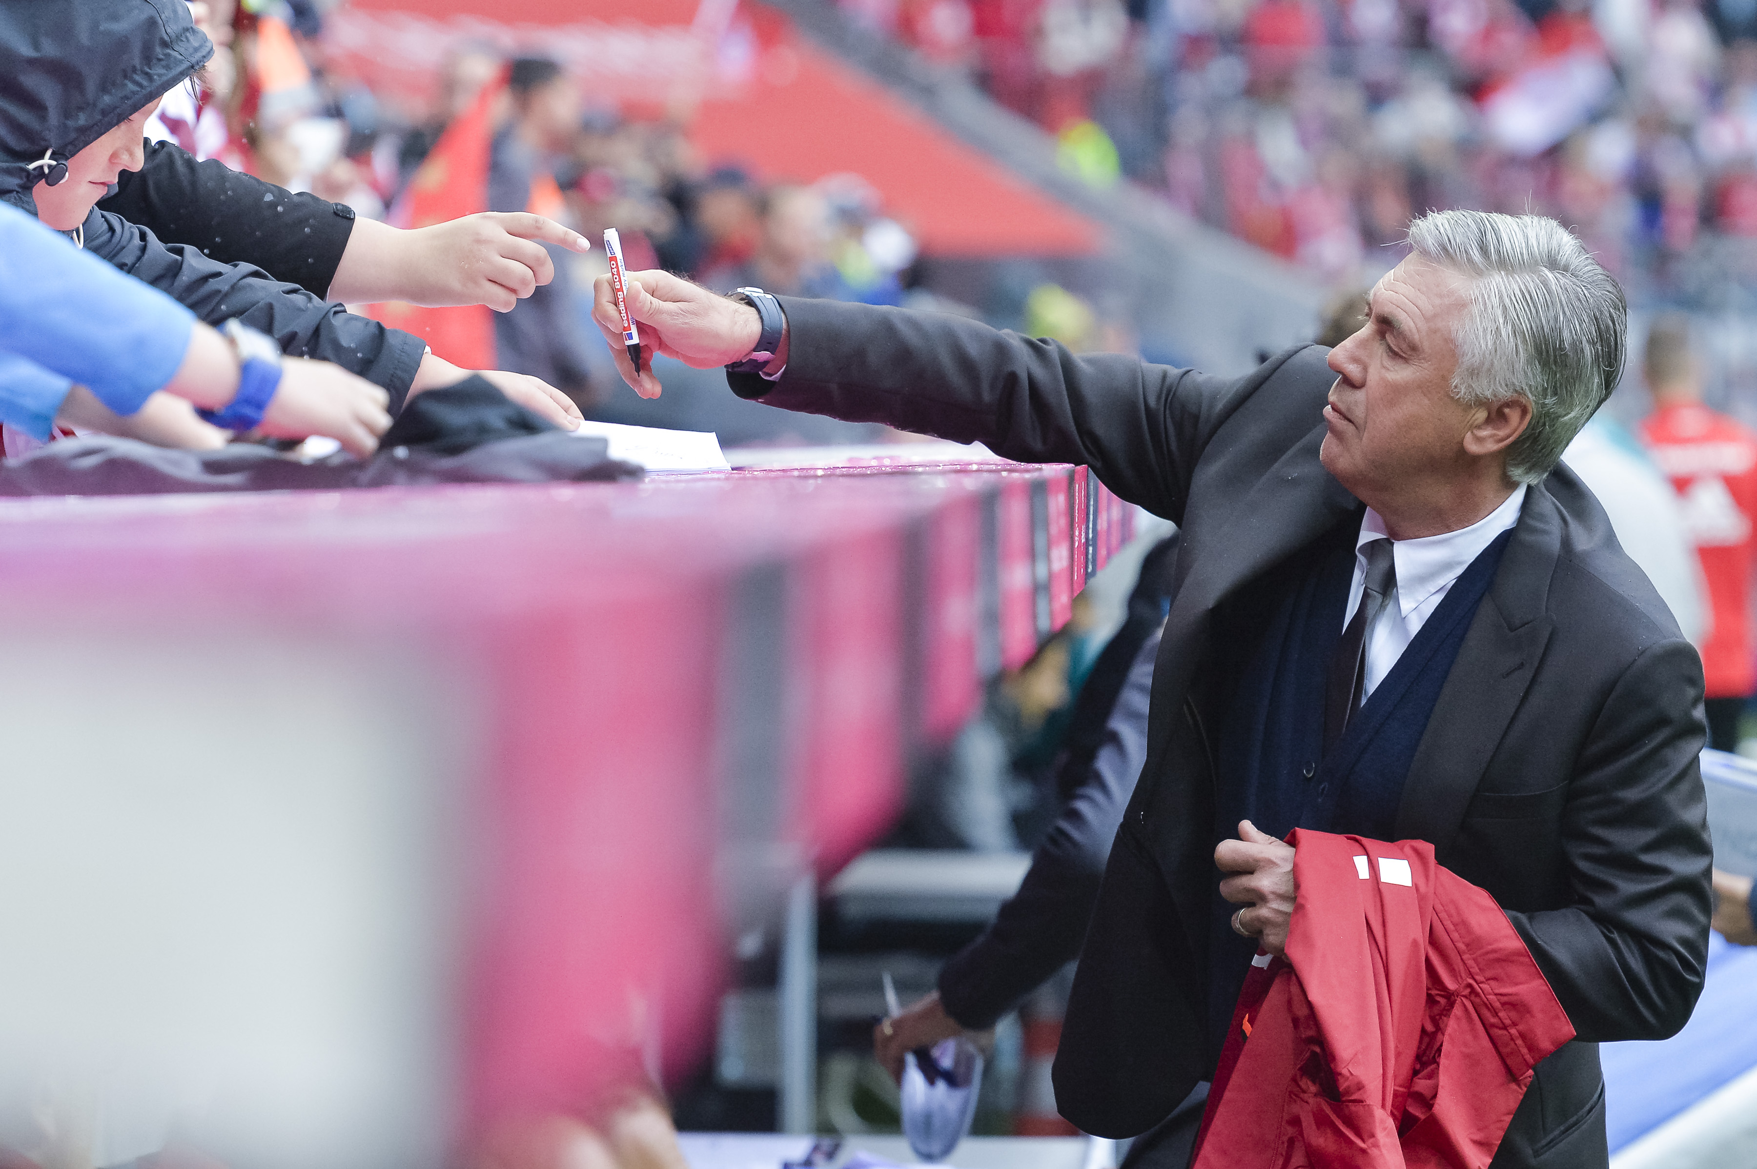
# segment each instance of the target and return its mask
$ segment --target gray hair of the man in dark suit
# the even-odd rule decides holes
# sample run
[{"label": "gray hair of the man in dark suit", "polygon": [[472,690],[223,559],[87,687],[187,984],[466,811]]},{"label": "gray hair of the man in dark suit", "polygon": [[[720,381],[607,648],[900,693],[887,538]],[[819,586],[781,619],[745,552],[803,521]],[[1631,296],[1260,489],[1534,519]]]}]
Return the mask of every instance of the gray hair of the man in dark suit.
[{"label": "gray hair of the man in dark suit", "polygon": [[1544,216],[1430,211],[1409,225],[1409,246],[1471,277],[1451,393],[1469,405],[1530,402],[1508,476],[1537,483],[1622,377],[1623,290]]}]

